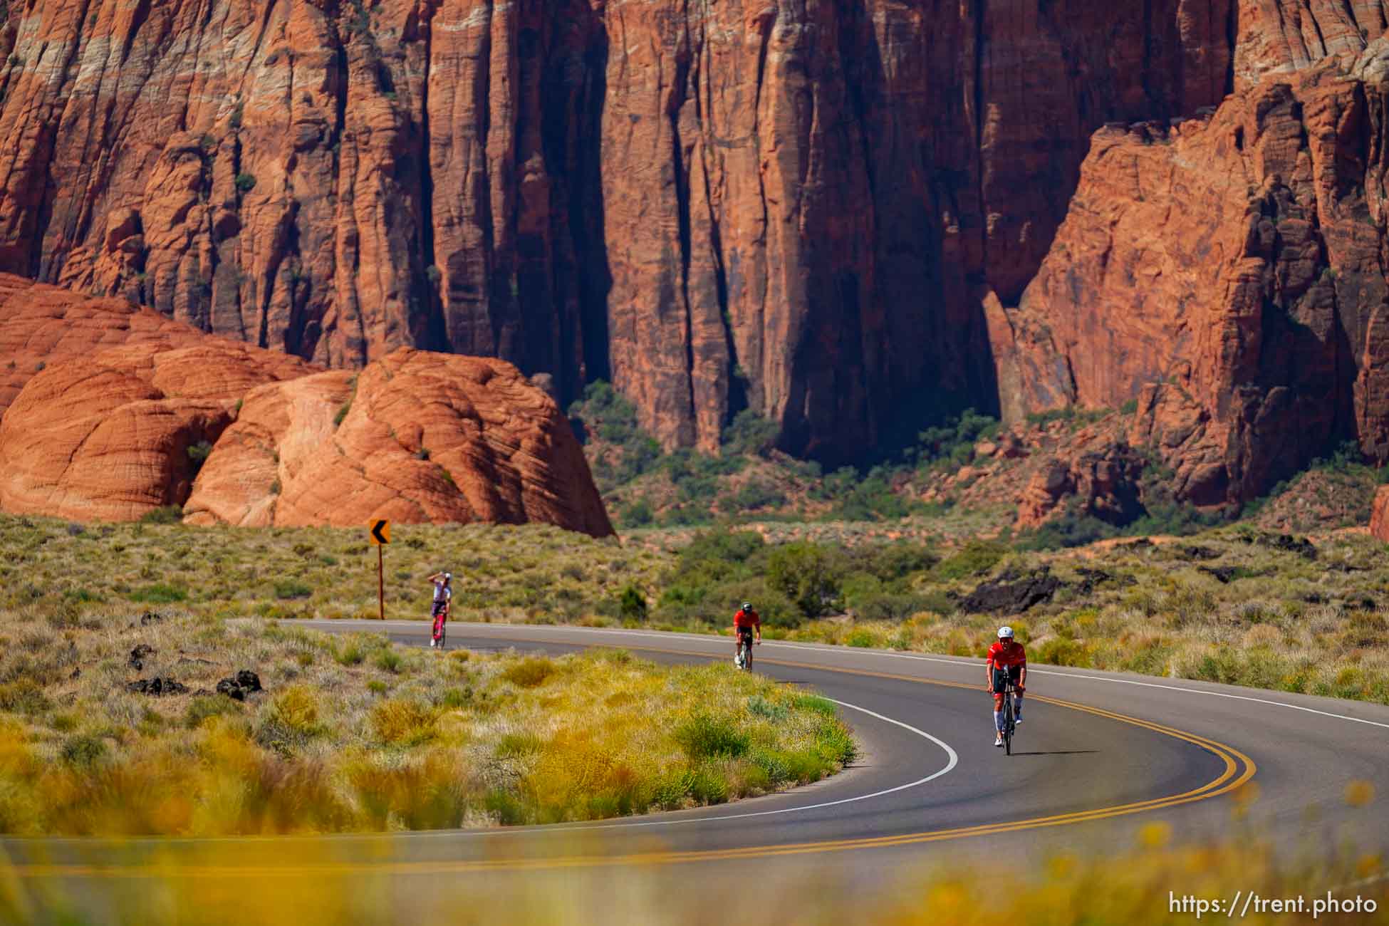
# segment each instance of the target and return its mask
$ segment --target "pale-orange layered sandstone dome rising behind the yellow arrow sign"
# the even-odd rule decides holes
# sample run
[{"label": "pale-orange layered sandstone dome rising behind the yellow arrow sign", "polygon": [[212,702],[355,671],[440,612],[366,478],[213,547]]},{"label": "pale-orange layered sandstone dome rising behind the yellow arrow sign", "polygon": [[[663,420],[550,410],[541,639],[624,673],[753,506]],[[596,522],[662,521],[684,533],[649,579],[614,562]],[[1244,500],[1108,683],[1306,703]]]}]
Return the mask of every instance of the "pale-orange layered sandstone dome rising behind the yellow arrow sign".
[{"label": "pale-orange layered sandstone dome rising behind the yellow arrow sign", "polygon": [[217,441],[188,521],[539,521],[608,536],[554,401],[511,364],[401,348],[360,375],[263,386]]}]

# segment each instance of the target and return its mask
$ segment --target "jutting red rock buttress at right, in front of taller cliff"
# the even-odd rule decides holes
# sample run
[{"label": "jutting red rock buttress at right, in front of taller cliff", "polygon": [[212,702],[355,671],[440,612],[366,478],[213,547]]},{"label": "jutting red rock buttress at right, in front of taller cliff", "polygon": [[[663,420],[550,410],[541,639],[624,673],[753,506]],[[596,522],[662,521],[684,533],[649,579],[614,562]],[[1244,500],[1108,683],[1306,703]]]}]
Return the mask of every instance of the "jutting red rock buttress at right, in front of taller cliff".
[{"label": "jutting red rock buttress at right, in front of taller cliff", "polygon": [[1326,61],[1208,121],[1096,135],[1004,312],[1004,405],[1135,403],[1131,439],[1197,504],[1251,498],[1336,440],[1389,458],[1386,103]]}]

